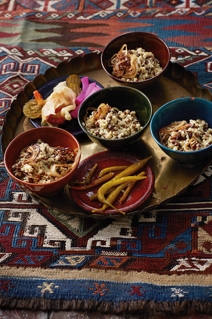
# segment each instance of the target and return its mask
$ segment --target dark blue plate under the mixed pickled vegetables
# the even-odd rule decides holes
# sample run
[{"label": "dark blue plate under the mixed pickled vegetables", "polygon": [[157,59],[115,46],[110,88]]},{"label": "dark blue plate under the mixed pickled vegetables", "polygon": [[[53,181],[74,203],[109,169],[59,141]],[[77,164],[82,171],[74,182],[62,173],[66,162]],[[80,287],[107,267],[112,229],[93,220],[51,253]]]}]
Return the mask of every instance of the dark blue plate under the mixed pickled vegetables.
[{"label": "dark blue plate under the mixed pickled vegetables", "polygon": [[[42,95],[43,99],[46,100],[47,97],[53,92],[53,88],[60,82],[65,81],[67,76],[60,77],[60,78],[55,78],[44,85],[42,85],[38,91]],[[84,78],[79,75],[79,78]],[[101,87],[102,89],[104,88],[99,82],[89,79],[89,84],[95,82],[96,86]],[[31,98],[34,99],[34,96]],[[30,122],[34,127],[40,127],[41,126],[41,118],[36,118],[36,119],[29,119]],[[83,130],[81,129],[78,119],[71,119],[71,121],[65,121],[64,124],[59,125],[60,129],[66,130],[69,133],[73,134],[74,136],[80,135],[83,133]]]}]

